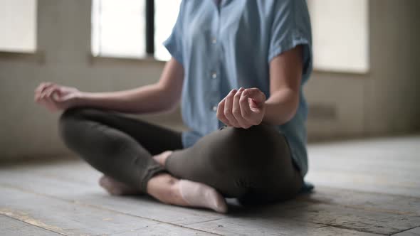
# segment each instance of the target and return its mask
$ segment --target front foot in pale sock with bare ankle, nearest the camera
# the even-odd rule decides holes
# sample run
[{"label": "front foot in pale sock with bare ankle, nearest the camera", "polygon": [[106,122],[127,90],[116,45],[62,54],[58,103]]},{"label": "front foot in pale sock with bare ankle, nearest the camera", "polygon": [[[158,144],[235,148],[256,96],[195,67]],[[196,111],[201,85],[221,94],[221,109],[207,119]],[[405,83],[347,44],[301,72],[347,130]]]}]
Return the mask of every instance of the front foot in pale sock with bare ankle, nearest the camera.
[{"label": "front foot in pale sock with bare ankle, nearest the camera", "polygon": [[167,173],[151,178],[147,183],[147,193],[162,203],[227,212],[225,199],[214,188],[204,183],[179,180]]}]

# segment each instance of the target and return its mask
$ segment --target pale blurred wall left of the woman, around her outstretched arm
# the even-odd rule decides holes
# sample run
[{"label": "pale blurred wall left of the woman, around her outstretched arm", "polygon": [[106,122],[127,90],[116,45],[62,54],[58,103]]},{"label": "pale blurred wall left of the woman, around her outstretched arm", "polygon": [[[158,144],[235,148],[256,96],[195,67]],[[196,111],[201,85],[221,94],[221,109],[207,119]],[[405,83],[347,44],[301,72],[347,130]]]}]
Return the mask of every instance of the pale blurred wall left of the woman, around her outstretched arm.
[{"label": "pale blurred wall left of the woman, around her outstretched arm", "polygon": [[38,4],[38,51],[44,62],[0,53],[0,159],[68,153],[58,139],[58,114],[33,103],[33,90],[40,82],[87,91],[122,90],[157,81],[163,67],[147,61],[91,63],[90,1]]}]

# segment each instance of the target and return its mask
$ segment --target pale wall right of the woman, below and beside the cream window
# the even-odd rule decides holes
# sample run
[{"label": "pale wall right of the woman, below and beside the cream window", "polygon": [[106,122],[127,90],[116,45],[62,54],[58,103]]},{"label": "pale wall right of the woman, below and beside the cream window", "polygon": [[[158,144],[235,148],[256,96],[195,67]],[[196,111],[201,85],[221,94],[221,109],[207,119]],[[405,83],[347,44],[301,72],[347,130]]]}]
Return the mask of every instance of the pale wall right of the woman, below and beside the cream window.
[{"label": "pale wall right of the woman, below and beside the cream window", "polygon": [[[420,1],[369,0],[369,72],[314,72],[310,104],[335,107],[335,119],[310,119],[310,139],[419,131]],[[344,45],[343,45],[344,46]]]}]

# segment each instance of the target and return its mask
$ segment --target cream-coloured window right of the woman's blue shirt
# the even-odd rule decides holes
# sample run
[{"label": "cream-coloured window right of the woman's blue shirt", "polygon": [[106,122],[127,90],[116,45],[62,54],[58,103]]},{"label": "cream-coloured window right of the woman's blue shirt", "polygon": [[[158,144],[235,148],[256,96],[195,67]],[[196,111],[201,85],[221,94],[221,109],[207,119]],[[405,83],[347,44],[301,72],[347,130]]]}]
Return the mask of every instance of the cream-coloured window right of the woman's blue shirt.
[{"label": "cream-coloured window right of the woman's blue shirt", "polygon": [[367,73],[367,0],[308,0],[315,70]]}]

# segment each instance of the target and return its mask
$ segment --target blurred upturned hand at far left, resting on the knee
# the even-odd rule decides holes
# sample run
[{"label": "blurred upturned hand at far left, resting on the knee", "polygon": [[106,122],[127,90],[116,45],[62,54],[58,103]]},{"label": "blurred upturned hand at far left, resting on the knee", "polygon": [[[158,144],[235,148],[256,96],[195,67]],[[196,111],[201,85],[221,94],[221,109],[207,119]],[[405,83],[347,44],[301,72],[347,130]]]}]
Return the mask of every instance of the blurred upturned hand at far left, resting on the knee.
[{"label": "blurred upturned hand at far left, resting on the knee", "polygon": [[81,92],[75,87],[56,85],[53,82],[42,82],[35,90],[34,100],[51,112],[68,109],[76,104]]}]

